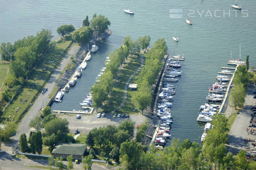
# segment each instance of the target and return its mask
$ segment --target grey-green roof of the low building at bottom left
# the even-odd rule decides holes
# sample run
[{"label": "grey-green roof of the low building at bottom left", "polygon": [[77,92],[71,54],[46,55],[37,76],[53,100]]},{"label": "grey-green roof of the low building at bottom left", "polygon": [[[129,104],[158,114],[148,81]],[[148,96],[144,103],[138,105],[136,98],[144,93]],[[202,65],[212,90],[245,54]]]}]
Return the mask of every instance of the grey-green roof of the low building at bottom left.
[{"label": "grey-green roof of the low building at bottom left", "polygon": [[86,147],[86,144],[59,144],[54,148],[54,150],[52,150],[51,153],[83,155],[85,153]]}]

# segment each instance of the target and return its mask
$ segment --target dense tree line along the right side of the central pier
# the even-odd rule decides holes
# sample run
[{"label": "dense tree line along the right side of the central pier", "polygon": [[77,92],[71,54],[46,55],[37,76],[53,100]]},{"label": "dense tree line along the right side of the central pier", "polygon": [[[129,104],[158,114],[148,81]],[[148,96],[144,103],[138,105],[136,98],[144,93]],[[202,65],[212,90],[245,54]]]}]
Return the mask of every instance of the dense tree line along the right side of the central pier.
[{"label": "dense tree line along the right side of the central pier", "polygon": [[137,80],[138,91],[132,96],[134,105],[142,111],[142,114],[143,110],[152,101],[152,85],[156,82],[166,51],[167,46],[165,40],[158,39],[149,53],[146,54],[145,67],[142,68]]}]

